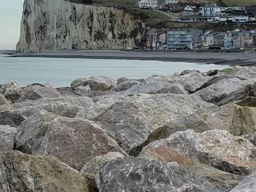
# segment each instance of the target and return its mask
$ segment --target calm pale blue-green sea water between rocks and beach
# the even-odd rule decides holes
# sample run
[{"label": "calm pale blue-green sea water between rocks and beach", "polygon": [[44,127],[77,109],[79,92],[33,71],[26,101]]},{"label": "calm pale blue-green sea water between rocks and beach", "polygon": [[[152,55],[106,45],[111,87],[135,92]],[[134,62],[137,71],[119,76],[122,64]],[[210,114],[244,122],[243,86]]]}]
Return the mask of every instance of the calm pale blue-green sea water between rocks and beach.
[{"label": "calm pale blue-green sea water between rocks and beach", "polygon": [[92,75],[112,78],[145,78],[152,74],[171,75],[185,69],[206,72],[209,69],[223,69],[225,67],[184,62],[0,56],[0,84],[14,80],[20,86],[34,82],[51,82],[54,86],[59,87],[69,86],[76,78]]}]

